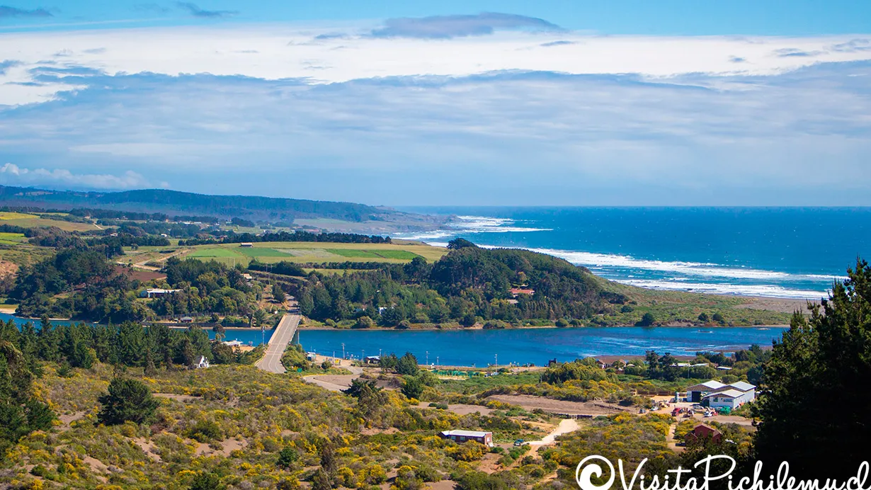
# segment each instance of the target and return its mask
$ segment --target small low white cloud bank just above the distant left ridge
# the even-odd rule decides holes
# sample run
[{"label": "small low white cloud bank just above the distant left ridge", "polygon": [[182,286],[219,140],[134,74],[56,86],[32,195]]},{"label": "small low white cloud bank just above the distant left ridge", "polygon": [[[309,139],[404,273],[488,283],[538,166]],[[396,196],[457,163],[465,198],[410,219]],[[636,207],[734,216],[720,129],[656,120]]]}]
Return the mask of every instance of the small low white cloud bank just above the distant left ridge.
[{"label": "small low white cloud bank just above the distant left ridge", "polygon": [[[88,189],[136,189],[147,187],[148,181],[135,171],[123,175],[74,174],[65,169],[28,169],[17,164],[3,164],[0,180],[5,185],[64,185]],[[165,183],[163,183],[165,184]]]}]

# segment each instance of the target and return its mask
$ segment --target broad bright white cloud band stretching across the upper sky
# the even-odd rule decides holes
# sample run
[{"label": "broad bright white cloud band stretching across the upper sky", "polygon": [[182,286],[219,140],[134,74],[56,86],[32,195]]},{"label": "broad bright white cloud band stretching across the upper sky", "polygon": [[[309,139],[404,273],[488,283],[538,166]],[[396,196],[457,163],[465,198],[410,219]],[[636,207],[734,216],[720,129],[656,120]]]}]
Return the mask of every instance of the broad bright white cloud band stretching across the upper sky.
[{"label": "broad bright white cloud band stretching across the upper sky", "polygon": [[[436,27],[443,28],[443,23]],[[371,30],[281,24],[0,33],[0,60],[22,63],[0,76],[0,104],[40,102],[59,90],[56,86],[11,95],[3,85],[33,81],[30,69],[58,52],[67,56],[54,58],[53,66],[110,74],[211,73],[269,80],[298,77],[307,83],[464,77],[494,70],[644,77],[773,75],[820,62],[871,59],[871,50],[863,49],[868,37],[856,36],[644,37],[557,31],[429,39],[379,38],[368,35]]]}]

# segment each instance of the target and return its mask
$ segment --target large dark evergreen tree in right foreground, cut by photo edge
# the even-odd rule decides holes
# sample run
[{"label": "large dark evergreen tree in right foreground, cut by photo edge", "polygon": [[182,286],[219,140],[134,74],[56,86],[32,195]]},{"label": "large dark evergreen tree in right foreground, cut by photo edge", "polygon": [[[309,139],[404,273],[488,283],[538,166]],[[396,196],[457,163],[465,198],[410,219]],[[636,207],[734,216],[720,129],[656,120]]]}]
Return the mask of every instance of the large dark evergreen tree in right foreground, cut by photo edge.
[{"label": "large dark evergreen tree in right foreground, cut by photo edge", "polygon": [[868,459],[871,267],[859,259],[847,276],[810,318],[795,312],[762,373],[757,455],[768,467],[789,461],[791,476],[842,479]]}]

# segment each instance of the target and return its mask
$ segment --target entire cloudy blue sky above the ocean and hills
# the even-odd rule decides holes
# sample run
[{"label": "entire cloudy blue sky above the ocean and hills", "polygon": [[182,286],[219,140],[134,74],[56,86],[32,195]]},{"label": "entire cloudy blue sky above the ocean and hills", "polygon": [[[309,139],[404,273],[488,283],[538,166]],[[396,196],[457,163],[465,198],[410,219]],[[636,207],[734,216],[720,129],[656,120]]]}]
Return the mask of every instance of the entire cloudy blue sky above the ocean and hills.
[{"label": "entire cloudy blue sky above the ocean and hills", "polygon": [[0,184],[871,205],[871,3],[0,0]]}]

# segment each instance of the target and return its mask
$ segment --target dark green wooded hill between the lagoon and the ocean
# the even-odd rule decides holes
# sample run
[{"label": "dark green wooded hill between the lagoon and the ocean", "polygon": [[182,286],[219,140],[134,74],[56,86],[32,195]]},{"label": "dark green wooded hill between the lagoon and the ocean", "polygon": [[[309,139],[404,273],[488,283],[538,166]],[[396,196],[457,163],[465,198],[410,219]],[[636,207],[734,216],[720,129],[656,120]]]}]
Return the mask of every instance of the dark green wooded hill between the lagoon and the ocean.
[{"label": "dark green wooded hill between the lagoon and the ocean", "polygon": [[[513,294],[512,288],[534,290]],[[591,272],[561,259],[516,249],[454,249],[427,264],[344,276],[309,276],[295,291],[300,308],[319,319],[380,317],[385,326],[479,319],[584,319],[625,297],[604,291]],[[381,312],[379,313],[379,308]]]}]

